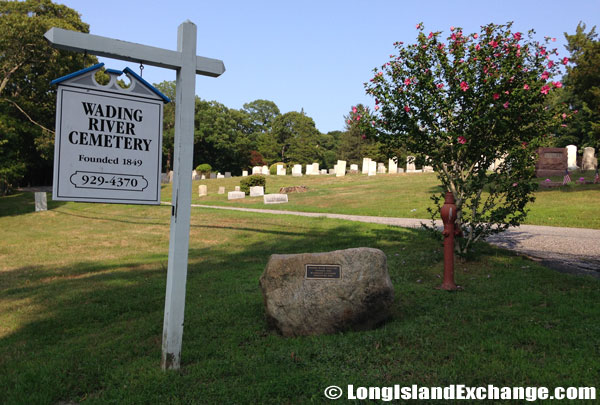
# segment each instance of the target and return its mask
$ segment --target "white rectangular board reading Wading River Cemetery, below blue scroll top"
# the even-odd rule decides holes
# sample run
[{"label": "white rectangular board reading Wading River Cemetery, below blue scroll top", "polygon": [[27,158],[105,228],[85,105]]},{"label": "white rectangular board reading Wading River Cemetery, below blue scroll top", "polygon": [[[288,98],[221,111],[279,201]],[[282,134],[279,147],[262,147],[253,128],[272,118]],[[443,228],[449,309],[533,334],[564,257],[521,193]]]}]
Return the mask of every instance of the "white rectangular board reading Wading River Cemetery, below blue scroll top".
[{"label": "white rectangular board reading Wading River Cemetery, below blue scroll top", "polygon": [[160,204],[162,105],[59,86],[52,198]]}]

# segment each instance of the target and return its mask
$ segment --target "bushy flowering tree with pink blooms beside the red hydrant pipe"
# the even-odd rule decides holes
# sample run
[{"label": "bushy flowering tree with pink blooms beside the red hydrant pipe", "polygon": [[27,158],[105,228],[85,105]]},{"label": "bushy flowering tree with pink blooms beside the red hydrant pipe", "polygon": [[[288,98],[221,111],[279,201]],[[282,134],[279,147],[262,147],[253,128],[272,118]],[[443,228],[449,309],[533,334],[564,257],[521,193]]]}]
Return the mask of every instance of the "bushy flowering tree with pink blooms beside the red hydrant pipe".
[{"label": "bushy flowering tree with pink blooms beside the red hydrant pipe", "polygon": [[417,43],[397,42],[398,55],[365,83],[375,113],[352,118],[367,136],[402,142],[417,163],[433,166],[444,190],[429,212],[436,216],[452,192],[462,253],[523,221],[537,186],[535,149],[560,125],[546,96],[562,86],[552,77],[568,59],[556,59],[550,38],[541,44],[533,31],[525,38],[511,27],[490,24],[470,35],[450,27],[444,41],[418,24]]}]

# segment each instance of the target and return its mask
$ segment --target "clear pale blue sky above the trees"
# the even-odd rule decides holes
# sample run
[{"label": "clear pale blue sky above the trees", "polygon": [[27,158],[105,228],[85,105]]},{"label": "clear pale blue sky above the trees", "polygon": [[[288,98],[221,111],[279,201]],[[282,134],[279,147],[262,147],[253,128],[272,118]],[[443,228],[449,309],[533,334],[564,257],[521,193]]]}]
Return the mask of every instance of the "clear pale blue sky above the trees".
[{"label": "clear pale blue sky above the trees", "polygon": [[[363,83],[394,53],[394,42],[415,41],[418,22],[448,34],[450,26],[472,33],[514,21],[515,30],[533,28],[540,40],[555,37],[561,57],[564,32],[574,33],[579,21],[600,28],[599,0],[55,1],[77,10],[92,34],[173,50],[177,27],[189,19],[198,27],[198,55],[227,69],[216,79],[197,76],[199,97],[238,109],[256,99],[274,101],[282,113],[303,108],[321,132],[343,130],[352,105],[373,104]],[[139,64],[100,61],[139,72]],[[175,80],[175,72],[146,66],[143,77],[158,83]]]}]

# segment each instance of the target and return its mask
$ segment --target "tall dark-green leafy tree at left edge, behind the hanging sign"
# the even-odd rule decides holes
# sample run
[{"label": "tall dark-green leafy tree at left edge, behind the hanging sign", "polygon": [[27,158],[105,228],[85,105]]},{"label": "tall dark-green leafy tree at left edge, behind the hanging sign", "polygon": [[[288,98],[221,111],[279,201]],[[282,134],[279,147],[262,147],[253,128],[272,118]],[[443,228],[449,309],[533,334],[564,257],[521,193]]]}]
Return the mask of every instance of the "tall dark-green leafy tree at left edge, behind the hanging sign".
[{"label": "tall dark-green leafy tree at left edge, behind the hanging sign", "polygon": [[51,178],[56,89],[50,81],[85,67],[84,55],[50,47],[43,35],[52,27],[89,32],[75,10],[50,0],[0,2],[0,192],[23,177]]}]

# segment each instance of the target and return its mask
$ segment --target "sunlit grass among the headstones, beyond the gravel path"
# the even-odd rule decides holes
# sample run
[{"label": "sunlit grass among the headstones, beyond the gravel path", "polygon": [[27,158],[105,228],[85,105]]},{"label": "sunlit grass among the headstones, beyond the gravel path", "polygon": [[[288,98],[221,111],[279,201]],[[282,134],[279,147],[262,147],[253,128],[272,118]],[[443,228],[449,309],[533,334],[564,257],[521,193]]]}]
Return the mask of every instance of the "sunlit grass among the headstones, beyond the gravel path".
[{"label": "sunlit grass among the headstones, beyond the gravel path", "polygon": [[[579,177],[591,181],[593,171],[571,173],[573,182],[560,188],[542,189],[535,193],[536,201],[528,205],[525,223],[531,225],[563,226],[600,229],[600,184],[575,184]],[[326,212],[351,215],[372,215],[428,219],[430,196],[441,190],[435,173],[397,175],[335,176],[268,176],[267,193],[277,193],[284,186],[307,186],[307,193],[288,196],[288,204],[265,206],[262,197],[227,200],[227,191],[239,185],[241,177],[193,182],[192,203],[226,205],[246,208],[268,208],[287,211]],[[542,182],[544,179],[539,179]],[[562,177],[553,177],[562,181]],[[208,186],[208,196],[198,196],[198,186]],[[219,186],[226,193],[217,194]],[[171,186],[163,189],[163,200],[171,200]]]}]

